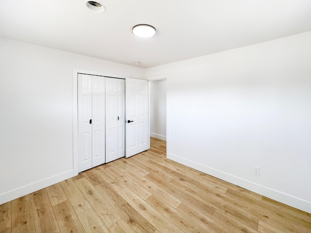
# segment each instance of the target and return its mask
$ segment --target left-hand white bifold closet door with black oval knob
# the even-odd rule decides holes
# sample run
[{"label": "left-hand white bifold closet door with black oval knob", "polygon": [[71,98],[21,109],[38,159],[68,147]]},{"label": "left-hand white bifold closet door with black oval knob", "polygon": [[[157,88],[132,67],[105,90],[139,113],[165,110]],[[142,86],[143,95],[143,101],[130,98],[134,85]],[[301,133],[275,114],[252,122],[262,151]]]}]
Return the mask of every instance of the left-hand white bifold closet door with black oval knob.
[{"label": "left-hand white bifold closet door with black oval knob", "polygon": [[105,163],[105,78],[78,74],[79,172]]}]

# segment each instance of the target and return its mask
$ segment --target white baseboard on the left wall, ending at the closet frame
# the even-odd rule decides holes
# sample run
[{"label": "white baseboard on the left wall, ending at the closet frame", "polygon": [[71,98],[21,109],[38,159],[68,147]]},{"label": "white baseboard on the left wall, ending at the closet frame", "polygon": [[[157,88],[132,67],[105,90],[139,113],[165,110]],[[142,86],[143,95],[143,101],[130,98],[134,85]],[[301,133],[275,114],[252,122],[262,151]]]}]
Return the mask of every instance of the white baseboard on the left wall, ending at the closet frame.
[{"label": "white baseboard on the left wall, ending at the closet frame", "polygon": [[64,181],[73,177],[73,170],[65,171],[63,173],[57,174],[55,176],[43,179],[41,181],[30,183],[25,186],[19,187],[17,189],[13,189],[11,191],[1,193],[0,194],[0,204],[6,203],[8,201],[20,198],[27,194],[38,191],[42,188],[46,188],[52,184]]}]

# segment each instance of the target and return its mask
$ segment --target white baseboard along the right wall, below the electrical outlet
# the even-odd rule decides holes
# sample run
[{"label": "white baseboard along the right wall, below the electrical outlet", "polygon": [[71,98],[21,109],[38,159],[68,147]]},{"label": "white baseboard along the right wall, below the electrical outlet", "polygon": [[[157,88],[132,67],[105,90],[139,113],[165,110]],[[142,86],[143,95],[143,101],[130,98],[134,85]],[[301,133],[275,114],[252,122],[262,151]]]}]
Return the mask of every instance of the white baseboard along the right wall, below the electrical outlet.
[{"label": "white baseboard along the right wall, below the electrical outlet", "polygon": [[252,183],[247,180],[241,179],[239,177],[230,175],[228,173],[216,170],[214,168],[198,164],[196,162],[190,161],[188,159],[179,157],[177,155],[174,155],[172,153],[168,154],[168,159],[171,159],[175,162],[178,162],[180,164],[189,166],[193,169],[196,169],[198,171],[204,172],[208,175],[214,176],[216,178],[219,178],[221,180],[224,180],[229,183],[233,183],[235,185],[238,185],[242,188],[245,188],[247,190],[250,190],[252,192],[258,193],[259,195],[262,195],[264,197],[279,201],[281,203],[287,204],[289,206],[292,206],[294,208],[297,208],[299,210],[303,210],[305,212],[311,213],[311,202],[307,200],[302,200],[297,197],[293,197],[291,195],[288,195],[286,193],[279,192],[277,190],[267,188],[264,186],[261,186],[257,183]]}]

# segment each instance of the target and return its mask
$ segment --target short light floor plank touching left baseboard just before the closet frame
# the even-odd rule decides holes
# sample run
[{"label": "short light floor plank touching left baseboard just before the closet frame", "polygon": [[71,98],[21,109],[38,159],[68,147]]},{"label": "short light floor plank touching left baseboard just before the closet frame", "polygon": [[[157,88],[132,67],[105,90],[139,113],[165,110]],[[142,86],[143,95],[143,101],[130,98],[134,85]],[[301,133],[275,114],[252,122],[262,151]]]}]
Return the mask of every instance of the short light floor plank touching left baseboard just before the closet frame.
[{"label": "short light floor plank touching left baseboard just before the closet frame", "polygon": [[[83,178],[85,177],[83,176]],[[90,203],[86,200],[86,197],[74,183],[73,179],[65,180],[59,184],[63,188],[64,193],[66,194],[74,212],[77,215],[91,208]]]}]

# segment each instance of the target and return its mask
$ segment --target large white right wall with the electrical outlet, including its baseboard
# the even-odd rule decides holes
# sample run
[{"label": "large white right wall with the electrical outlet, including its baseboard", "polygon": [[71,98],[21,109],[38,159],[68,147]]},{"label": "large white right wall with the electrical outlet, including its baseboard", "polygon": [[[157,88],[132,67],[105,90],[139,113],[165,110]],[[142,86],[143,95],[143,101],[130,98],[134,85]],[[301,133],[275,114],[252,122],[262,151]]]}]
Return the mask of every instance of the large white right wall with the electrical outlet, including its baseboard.
[{"label": "large white right wall with the electrical outlet, including its baseboard", "polygon": [[301,33],[146,69],[169,74],[168,157],[311,213],[310,41]]}]

